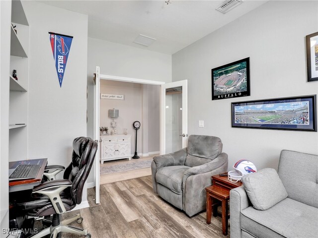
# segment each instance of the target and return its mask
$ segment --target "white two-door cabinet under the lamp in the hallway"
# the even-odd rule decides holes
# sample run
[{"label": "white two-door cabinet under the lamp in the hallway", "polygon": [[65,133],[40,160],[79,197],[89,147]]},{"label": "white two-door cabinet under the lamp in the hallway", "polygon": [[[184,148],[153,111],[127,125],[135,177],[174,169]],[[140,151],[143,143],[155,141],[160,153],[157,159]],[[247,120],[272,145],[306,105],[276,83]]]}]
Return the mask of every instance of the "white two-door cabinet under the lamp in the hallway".
[{"label": "white two-door cabinet under the lamp in the hallway", "polygon": [[100,163],[104,161],[129,159],[131,160],[131,135],[105,135],[100,136],[101,154]]}]

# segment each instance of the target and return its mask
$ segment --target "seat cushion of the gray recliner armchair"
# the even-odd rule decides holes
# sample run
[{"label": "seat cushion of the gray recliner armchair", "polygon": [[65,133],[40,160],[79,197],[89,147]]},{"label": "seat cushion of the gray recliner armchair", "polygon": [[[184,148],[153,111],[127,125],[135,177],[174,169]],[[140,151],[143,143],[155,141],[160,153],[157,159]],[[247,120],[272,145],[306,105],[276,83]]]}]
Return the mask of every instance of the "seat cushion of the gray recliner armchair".
[{"label": "seat cushion of the gray recliner armchair", "polygon": [[184,165],[163,167],[157,171],[156,180],[175,193],[182,194],[183,175],[189,168]]}]

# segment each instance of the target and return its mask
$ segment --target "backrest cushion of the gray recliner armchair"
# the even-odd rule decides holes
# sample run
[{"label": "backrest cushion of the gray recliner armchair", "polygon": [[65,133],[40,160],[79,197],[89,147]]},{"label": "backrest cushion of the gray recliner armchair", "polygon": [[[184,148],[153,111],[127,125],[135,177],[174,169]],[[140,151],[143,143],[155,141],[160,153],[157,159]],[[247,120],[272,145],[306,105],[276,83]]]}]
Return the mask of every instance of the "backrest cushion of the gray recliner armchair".
[{"label": "backrest cushion of the gray recliner armchair", "polygon": [[222,142],[219,137],[209,135],[190,135],[188,140],[188,155],[185,166],[200,166],[214,160],[222,152]]}]

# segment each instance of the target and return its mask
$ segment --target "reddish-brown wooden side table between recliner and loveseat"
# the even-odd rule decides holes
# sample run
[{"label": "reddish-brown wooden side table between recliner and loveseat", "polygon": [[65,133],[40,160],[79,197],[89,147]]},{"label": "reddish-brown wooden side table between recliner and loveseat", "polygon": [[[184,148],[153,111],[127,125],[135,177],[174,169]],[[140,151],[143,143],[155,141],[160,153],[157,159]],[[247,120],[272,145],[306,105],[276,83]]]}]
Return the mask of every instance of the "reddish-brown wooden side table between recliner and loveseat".
[{"label": "reddish-brown wooden side table between recliner and loveseat", "polygon": [[230,190],[241,185],[243,185],[241,181],[231,182],[228,180],[228,176],[215,175],[212,176],[212,185],[205,188],[207,191],[207,224],[211,224],[212,210],[214,217],[218,215],[217,209],[221,203],[222,232],[225,236],[228,235],[228,219],[230,217],[228,214]]}]

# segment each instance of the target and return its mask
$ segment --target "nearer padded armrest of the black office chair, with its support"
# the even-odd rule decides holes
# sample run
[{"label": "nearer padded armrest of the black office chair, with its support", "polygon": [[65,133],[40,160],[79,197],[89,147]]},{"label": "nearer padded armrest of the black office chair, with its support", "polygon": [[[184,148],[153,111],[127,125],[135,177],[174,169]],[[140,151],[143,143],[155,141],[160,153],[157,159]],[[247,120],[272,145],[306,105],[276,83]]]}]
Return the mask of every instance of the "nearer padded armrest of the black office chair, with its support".
[{"label": "nearer padded armrest of the black office chair, with its support", "polygon": [[64,213],[66,209],[60,197],[60,192],[65,188],[72,186],[72,181],[69,179],[58,179],[53,181],[43,182],[32,189],[32,193],[41,193],[47,195],[56,213]]}]

